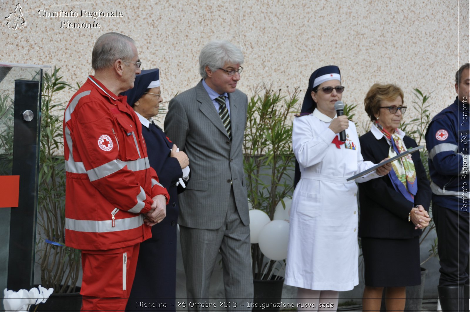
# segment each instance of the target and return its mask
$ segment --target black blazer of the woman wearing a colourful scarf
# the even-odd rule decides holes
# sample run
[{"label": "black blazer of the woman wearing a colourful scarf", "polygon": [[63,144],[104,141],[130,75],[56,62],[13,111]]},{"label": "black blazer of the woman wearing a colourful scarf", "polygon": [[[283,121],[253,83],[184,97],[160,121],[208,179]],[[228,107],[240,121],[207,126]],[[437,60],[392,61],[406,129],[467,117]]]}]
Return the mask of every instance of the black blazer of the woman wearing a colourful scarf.
[{"label": "black blazer of the woman wearing a colourful scarf", "polygon": [[[384,137],[377,140],[369,131],[359,141],[364,160],[378,164],[388,157],[390,146]],[[404,136],[403,141],[407,148],[417,146],[415,140],[408,136]],[[411,154],[411,158],[418,183],[414,203],[395,191],[388,175],[359,183],[359,237],[408,239],[421,234],[421,229],[415,230],[413,222],[408,222],[408,214],[416,205],[423,205],[429,211],[431,187],[419,152]]]}]

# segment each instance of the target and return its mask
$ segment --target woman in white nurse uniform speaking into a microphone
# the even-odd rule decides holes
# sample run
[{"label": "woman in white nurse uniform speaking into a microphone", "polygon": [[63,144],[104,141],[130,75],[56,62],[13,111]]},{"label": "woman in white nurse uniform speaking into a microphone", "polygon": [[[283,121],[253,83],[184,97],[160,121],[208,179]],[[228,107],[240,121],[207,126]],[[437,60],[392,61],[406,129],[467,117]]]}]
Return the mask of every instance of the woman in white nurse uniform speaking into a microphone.
[{"label": "woman in white nurse uniform speaking into a microphone", "polygon": [[[374,164],[362,159],[354,123],[336,116],[335,102],[343,90],[337,66],[315,70],[302,113],[294,120],[292,147],[300,180],[290,211],[285,283],[298,287],[298,310],[335,311],[338,291],[359,283],[357,186],[346,179]],[[343,130],[345,142],[338,138]],[[390,170],[387,164],[356,181]]]}]

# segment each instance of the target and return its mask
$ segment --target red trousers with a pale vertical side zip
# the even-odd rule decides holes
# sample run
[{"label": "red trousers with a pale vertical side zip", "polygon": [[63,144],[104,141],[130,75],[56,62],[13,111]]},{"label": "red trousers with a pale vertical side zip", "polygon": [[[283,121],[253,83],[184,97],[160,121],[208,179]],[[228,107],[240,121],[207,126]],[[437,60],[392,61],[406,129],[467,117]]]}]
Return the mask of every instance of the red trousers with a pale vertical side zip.
[{"label": "red trousers with a pale vertical side zip", "polygon": [[81,311],[124,311],[140,243],[113,250],[82,250]]}]

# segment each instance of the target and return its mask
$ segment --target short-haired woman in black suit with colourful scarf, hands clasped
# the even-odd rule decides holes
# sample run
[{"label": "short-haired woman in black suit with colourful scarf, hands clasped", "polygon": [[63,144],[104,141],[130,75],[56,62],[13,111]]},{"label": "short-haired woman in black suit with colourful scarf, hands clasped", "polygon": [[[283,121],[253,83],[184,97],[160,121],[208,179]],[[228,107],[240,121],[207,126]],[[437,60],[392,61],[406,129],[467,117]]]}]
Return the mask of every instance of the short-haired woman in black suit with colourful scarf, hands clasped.
[{"label": "short-haired woman in black suit with colourful scarf, hands clasped", "polygon": [[[364,160],[377,163],[417,146],[398,129],[406,110],[398,86],[375,84],[364,103],[373,122],[359,139]],[[394,161],[386,176],[359,183],[364,311],[380,310],[384,288],[387,310],[403,311],[406,286],[421,283],[419,235],[429,225],[430,202],[431,187],[419,153]]]}]

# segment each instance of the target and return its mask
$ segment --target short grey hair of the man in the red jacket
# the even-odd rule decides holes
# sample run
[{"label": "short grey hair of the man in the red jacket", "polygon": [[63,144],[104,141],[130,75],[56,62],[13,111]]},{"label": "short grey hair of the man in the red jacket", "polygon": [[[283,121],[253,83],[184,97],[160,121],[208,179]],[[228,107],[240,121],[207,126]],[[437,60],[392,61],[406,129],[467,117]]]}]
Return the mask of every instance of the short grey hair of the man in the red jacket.
[{"label": "short grey hair of the man in the red jacket", "polygon": [[94,70],[112,67],[114,61],[121,59],[129,61],[134,52],[129,43],[134,40],[118,32],[107,32],[96,40],[91,56],[91,66]]}]

